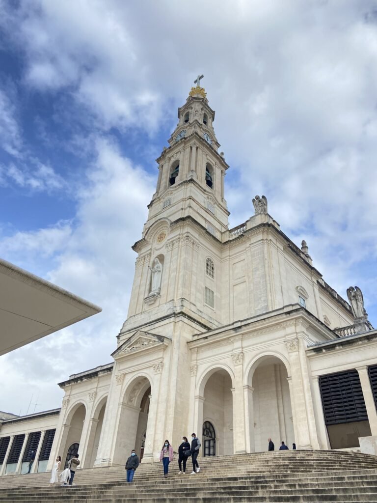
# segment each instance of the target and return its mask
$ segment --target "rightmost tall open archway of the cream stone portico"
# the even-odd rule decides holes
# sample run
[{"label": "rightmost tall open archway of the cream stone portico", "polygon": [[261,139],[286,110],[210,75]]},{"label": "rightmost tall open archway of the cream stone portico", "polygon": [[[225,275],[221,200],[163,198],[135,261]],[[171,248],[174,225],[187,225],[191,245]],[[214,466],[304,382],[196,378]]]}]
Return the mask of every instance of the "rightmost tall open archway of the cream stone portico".
[{"label": "rightmost tall open archway of the cream stone portico", "polygon": [[286,365],[276,356],[261,357],[250,369],[249,385],[252,389],[249,397],[252,400],[249,417],[252,450],[266,451],[268,438],[274,442],[275,449],[281,441],[291,449],[295,434]]}]

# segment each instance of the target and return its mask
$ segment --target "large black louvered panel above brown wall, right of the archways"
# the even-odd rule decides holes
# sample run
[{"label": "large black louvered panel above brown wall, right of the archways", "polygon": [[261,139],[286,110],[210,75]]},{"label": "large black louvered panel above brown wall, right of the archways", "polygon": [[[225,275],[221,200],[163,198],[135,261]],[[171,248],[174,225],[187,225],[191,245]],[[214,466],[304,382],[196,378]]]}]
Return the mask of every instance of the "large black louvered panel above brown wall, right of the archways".
[{"label": "large black louvered panel above brown wall, right of the archways", "polygon": [[320,376],[319,387],[326,425],[368,420],[357,370]]}]

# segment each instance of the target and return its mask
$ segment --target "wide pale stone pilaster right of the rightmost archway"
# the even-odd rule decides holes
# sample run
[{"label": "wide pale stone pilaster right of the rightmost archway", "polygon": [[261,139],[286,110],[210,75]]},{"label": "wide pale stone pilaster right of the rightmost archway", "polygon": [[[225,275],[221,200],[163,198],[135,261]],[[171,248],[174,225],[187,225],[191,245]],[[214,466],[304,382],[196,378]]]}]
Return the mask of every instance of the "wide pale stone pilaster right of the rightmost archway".
[{"label": "wide pale stone pilaster right of the rightmost archway", "polygon": [[[319,449],[313,402],[310,393],[309,373],[300,354],[300,340],[286,341],[289,352],[292,382],[290,384],[294,431],[298,449]],[[305,353],[304,353],[304,357]],[[309,386],[309,393],[308,393]]]}]

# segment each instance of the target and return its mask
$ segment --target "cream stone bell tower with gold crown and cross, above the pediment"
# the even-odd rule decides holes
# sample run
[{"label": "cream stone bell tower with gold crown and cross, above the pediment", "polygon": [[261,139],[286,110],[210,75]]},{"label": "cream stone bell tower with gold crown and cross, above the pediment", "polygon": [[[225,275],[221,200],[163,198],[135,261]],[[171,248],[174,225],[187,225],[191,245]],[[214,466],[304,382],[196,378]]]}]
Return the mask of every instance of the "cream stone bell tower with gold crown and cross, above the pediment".
[{"label": "cream stone bell tower with gold crown and cross, above the pediment", "polygon": [[[196,248],[203,241],[201,235],[209,233],[213,243],[220,245],[222,234],[228,231],[224,177],[229,166],[223,152],[218,152],[220,144],[213,127],[215,112],[209,106],[205,89],[200,87],[201,78],[203,75],[178,109],[178,123],[168,140],[169,147],[164,147],[156,159],[157,187],[148,205],[142,238],[133,247],[138,259],[121,340],[137,321],[144,322],[147,312],[150,316],[161,314],[162,306],[169,312],[189,310],[195,318],[201,311],[200,318],[203,317],[203,285],[187,272],[196,262],[193,250],[198,251]],[[175,250],[178,244],[179,253]],[[186,245],[191,246],[190,250]],[[212,256],[210,241],[205,246]],[[202,264],[205,261],[203,258]],[[216,326],[214,313],[209,314],[212,321],[206,328]]]}]

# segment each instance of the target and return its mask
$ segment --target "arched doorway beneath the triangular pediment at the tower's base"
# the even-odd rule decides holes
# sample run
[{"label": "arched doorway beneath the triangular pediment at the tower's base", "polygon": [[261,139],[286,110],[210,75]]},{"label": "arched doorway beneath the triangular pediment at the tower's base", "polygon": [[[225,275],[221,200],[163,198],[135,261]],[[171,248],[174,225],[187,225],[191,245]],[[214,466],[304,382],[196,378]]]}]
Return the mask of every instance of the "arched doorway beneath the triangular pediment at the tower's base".
[{"label": "arched doorway beneath the triangular pediment at the tower's base", "polygon": [[147,377],[137,377],[127,386],[120,404],[114,464],[124,464],[132,449],[141,457],[146,440],[143,437],[147,431],[150,394],[151,385]]}]

